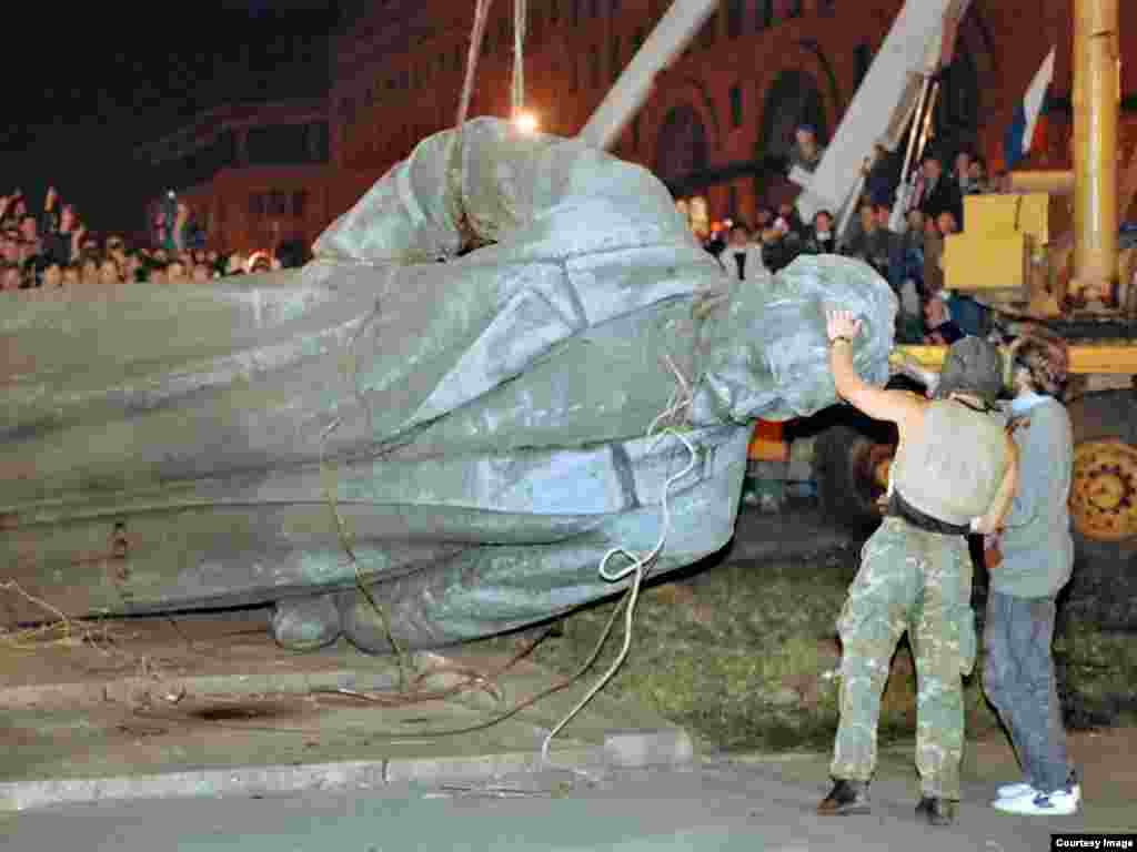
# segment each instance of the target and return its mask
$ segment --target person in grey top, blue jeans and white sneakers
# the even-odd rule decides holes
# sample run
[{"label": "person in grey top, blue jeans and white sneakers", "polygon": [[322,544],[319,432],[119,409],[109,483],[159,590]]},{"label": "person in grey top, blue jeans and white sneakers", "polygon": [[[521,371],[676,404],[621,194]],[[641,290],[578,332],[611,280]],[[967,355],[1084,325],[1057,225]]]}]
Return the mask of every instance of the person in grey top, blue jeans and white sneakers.
[{"label": "person in grey top, blue jeans and white sneakers", "polygon": [[1069,356],[1065,342],[1043,328],[1021,335],[1010,356],[1009,428],[1020,478],[997,545],[989,550],[994,556],[986,560],[984,690],[1011,735],[1023,780],[999,787],[994,807],[1067,816],[1078,810],[1081,790],[1067,759],[1051,643],[1055,599],[1073,567],[1067,506],[1073,438],[1060,401]]}]

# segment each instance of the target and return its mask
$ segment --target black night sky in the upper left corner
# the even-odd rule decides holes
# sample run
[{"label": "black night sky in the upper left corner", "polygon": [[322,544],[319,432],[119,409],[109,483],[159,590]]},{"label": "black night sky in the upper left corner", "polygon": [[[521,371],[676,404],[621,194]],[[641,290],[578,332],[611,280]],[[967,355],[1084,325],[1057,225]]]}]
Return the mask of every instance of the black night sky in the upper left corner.
[{"label": "black night sky in the upper left corner", "polygon": [[[339,0],[20,5],[0,118],[0,193],[53,183],[96,232],[134,231],[152,187],[132,149],[225,103],[318,97]],[[74,17],[82,8],[84,17]],[[101,17],[89,17],[93,11]],[[31,17],[25,17],[31,16]],[[10,39],[17,30],[5,26]],[[44,40],[42,51],[35,44]],[[18,57],[14,61],[14,57]]]}]

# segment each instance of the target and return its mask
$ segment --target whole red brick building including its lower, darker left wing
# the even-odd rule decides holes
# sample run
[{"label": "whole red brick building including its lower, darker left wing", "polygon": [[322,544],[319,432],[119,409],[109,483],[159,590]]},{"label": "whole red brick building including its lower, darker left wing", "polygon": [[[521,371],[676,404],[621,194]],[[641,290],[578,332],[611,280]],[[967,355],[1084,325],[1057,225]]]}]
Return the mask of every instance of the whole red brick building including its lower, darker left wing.
[{"label": "whole red brick building including its lower, darker left wing", "polygon": [[[1071,2],[972,1],[936,111],[946,152],[973,148],[998,168],[1003,132],[1056,45],[1047,150],[1031,165],[1069,167]],[[823,137],[832,133],[902,3],[722,0],[659,75],[615,153],[650,168],[678,198],[705,197],[714,218],[750,218],[758,203],[791,198],[796,187],[779,162],[794,128],[804,122]],[[310,244],[421,139],[454,124],[474,1],[354,6],[330,36],[326,102],[215,110],[140,152],[156,190],[182,191],[217,248]],[[579,132],[667,6],[528,0],[526,102],[541,130]],[[1137,55],[1137,2],[1121,5],[1121,33],[1122,57]],[[512,62],[513,3],[499,0],[471,116],[508,115]],[[1137,144],[1137,64],[1123,65],[1122,92],[1128,160]]]}]

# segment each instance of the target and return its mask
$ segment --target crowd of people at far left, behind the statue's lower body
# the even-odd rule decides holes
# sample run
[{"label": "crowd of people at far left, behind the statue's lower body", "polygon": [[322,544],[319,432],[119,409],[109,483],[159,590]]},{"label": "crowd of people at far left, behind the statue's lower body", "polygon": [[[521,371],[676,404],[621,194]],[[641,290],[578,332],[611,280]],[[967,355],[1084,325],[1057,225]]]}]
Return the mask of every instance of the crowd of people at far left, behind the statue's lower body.
[{"label": "crowd of people at far left, behind the statue's lower body", "polygon": [[246,257],[207,248],[189,204],[173,195],[158,206],[147,242],[130,245],[123,236],[89,231],[75,204],[64,201],[53,186],[39,206],[32,206],[18,189],[0,195],[2,290],[205,283],[297,265],[264,252]]}]

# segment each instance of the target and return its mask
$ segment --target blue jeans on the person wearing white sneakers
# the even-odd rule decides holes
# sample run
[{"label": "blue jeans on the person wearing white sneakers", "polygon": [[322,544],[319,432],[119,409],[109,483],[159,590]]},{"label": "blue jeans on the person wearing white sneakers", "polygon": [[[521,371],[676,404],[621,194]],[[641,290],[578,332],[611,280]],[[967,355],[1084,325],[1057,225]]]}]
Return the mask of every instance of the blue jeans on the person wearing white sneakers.
[{"label": "blue jeans on the person wearing white sneakers", "polygon": [[1023,780],[1043,793],[1067,790],[1065,728],[1054,678],[1054,599],[988,592],[984,691],[1019,755]]}]

